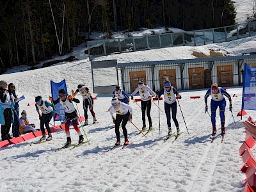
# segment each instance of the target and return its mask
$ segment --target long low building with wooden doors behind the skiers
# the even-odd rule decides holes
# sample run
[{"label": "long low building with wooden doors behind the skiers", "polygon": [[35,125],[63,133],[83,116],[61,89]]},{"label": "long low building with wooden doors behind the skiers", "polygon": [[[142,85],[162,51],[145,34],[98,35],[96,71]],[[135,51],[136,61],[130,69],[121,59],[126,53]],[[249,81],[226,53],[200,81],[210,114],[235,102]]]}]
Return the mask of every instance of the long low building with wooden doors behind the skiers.
[{"label": "long low building with wooden doors behind the skiers", "polygon": [[[133,84],[138,85],[138,79],[144,79],[152,90],[160,90],[165,76],[173,77],[171,82],[178,90],[209,88],[211,83],[218,83],[223,87],[240,86],[243,84],[244,63],[256,66],[256,55],[118,63],[116,67],[121,71],[122,88],[131,93],[134,90]],[[161,70],[166,74],[161,74]],[[175,71],[168,74],[168,70]],[[138,74],[132,77],[136,72]]]}]

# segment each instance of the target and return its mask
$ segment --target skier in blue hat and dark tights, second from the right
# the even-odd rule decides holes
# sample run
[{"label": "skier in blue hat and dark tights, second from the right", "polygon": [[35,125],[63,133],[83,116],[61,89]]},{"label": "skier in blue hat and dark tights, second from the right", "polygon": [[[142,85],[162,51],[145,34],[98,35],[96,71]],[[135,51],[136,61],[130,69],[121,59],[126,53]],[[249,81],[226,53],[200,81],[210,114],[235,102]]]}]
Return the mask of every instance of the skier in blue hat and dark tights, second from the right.
[{"label": "skier in blue hat and dark tights, second from the right", "polygon": [[178,135],[180,134],[180,129],[179,129],[179,123],[176,118],[176,115],[177,115],[176,96],[177,96],[177,99],[181,99],[181,96],[178,93],[178,91],[173,86],[171,86],[170,81],[164,82],[164,88],[160,90],[157,97],[160,98],[161,95],[164,95],[164,111],[167,119],[168,135],[172,134],[171,109],[172,109],[172,120],[176,126],[177,135]]}]

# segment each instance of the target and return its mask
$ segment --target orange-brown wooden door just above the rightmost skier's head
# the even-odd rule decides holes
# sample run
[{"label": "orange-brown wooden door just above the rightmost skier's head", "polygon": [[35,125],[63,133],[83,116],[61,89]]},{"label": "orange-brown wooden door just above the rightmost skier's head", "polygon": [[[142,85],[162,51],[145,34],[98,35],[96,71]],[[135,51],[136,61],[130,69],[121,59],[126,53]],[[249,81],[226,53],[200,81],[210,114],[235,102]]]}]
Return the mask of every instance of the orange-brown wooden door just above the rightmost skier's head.
[{"label": "orange-brown wooden door just above the rightmost skier's head", "polygon": [[217,66],[217,74],[219,86],[234,86],[233,65]]}]

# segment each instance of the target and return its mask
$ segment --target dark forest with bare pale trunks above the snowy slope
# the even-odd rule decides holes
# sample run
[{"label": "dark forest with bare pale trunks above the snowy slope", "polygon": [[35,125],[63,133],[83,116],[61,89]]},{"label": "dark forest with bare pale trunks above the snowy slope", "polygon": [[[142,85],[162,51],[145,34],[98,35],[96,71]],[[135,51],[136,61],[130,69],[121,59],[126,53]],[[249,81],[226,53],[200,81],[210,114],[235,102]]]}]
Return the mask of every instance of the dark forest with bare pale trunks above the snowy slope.
[{"label": "dark forest with bare pale trunks above the snowy slope", "polygon": [[[88,33],[235,24],[231,0],[0,0],[0,68],[34,65],[90,40]],[[87,35],[84,35],[87,34]]]}]

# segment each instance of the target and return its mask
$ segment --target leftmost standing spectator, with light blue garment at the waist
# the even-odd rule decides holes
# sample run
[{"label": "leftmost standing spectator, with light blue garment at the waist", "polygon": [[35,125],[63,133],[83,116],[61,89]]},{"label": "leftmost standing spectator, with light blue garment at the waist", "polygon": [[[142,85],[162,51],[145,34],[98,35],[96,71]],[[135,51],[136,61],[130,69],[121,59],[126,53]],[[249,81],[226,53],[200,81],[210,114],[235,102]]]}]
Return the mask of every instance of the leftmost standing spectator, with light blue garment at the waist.
[{"label": "leftmost standing spectator, with light blue garment at the waist", "polygon": [[10,128],[13,121],[14,99],[12,93],[7,92],[7,82],[0,81],[0,124],[2,140],[10,140]]}]

